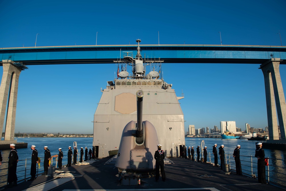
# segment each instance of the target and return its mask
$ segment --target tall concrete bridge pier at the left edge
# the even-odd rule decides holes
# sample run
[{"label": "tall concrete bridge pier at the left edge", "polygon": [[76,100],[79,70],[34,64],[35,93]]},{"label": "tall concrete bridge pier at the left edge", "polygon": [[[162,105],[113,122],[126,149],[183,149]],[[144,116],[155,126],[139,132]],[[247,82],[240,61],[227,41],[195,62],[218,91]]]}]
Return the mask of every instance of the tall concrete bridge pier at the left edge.
[{"label": "tall concrete bridge pier at the left edge", "polygon": [[14,140],[18,82],[21,69],[12,60],[2,60],[3,76],[0,85],[0,132],[3,131],[6,107],[5,141]]}]

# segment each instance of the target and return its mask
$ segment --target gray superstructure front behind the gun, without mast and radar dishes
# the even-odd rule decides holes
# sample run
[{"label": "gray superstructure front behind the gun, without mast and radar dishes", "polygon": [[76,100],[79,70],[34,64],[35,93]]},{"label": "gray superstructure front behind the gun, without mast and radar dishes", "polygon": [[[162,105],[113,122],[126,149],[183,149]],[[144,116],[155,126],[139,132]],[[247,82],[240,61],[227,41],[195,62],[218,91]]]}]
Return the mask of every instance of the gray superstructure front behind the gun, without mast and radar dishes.
[{"label": "gray superstructure front behind the gun, without mast and radar dishes", "polygon": [[176,157],[185,144],[184,115],[174,89],[164,80],[122,79],[106,86],[94,114],[93,146],[99,158],[119,148],[122,131],[137,121],[136,92],[144,91],[143,121],[150,121],[167,157]]}]

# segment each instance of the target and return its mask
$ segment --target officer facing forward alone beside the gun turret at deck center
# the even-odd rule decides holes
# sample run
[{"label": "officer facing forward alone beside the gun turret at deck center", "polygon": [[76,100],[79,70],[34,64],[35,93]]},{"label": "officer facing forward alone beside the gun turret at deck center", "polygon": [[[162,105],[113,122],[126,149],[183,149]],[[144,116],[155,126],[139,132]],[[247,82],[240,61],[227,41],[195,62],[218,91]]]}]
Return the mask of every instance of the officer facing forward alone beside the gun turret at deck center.
[{"label": "officer facing forward alone beside the gun turret at deck center", "polygon": [[155,151],[154,154],[154,159],[156,160],[156,177],[155,180],[158,182],[159,180],[159,169],[161,169],[161,176],[162,180],[165,182],[166,181],[166,175],[165,175],[165,170],[164,170],[164,158],[165,158],[165,153],[163,150],[161,150],[162,145],[157,145],[158,150]]}]

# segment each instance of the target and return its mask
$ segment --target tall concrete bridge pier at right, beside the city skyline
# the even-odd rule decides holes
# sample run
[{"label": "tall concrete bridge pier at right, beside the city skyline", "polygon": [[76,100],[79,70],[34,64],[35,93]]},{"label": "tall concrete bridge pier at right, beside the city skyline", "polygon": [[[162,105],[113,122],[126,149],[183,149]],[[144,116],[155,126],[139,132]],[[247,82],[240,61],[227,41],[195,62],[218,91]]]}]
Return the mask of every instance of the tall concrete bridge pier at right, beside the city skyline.
[{"label": "tall concrete bridge pier at right, beside the city skyline", "polygon": [[263,72],[265,82],[267,119],[270,140],[279,140],[276,109],[278,114],[281,139],[286,140],[286,103],[279,72],[279,64],[280,58],[271,58],[267,62],[260,65],[260,69]]}]

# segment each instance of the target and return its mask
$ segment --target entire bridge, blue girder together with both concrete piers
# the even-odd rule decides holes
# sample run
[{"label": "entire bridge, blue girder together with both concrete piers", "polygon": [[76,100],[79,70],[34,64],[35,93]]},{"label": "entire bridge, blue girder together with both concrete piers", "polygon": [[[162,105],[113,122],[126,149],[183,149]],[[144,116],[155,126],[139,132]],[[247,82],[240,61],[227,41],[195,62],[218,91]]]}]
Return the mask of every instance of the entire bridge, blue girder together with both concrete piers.
[{"label": "entire bridge, blue girder together with both concrete piers", "polygon": [[[279,72],[279,65],[286,64],[286,46],[141,45],[140,49],[143,55],[148,55],[143,56],[144,59],[160,59],[164,63],[260,64],[265,81],[269,139],[279,139],[277,111],[281,138],[286,140],[286,103]],[[19,75],[27,66],[108,64],[123,59],[122,51],[137,52],[137,45],[0,48],[0,65],[3,66],[0,132],[7,107],[4,141],[14,140]]]}]

